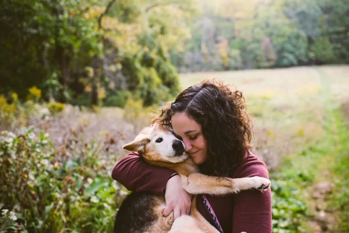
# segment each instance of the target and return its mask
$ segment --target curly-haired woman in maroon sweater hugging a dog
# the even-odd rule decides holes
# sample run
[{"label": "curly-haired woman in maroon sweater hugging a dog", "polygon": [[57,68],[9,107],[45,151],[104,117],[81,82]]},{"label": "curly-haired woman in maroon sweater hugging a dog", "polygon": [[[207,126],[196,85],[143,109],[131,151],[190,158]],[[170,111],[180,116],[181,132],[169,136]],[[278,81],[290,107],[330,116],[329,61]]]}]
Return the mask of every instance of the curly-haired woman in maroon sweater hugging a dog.
[{"label": "curly-haired woman in maroon sweater hugging a dog", "polygon": [[[266,165],[249,151],[252,121],[244,97],[222,82],[203,81],[187,88],[153,122],[164,125],[184,142],[203,174],[268,178]],[[190,212],[191,195],[181,187],[180,177],[169,169],[145,163],[137,152],[122,158],[114,166],[112,177],[132,191],[165,193],[164,216],[173,211],[177,218]],[[224,233],[272,232],[270,188],[263,193],[247,190],[205,196],[218,221],[208,214],[200,197],[196,203],[199,212]]]}]

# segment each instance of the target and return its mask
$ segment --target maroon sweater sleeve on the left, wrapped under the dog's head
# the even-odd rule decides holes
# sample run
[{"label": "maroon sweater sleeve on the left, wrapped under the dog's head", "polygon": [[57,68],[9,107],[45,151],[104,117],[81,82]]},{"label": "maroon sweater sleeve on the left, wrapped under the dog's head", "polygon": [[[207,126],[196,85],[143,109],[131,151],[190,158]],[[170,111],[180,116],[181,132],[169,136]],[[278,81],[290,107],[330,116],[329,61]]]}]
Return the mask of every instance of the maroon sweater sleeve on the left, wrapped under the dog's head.
[{"label": "maroon sweater sleeve on the left, wrapped under the dog's head", "polygon": [[131,191],[163,194],[174,171],[146,163],[138,152],[121,158],[112,170],[112,178]]}]

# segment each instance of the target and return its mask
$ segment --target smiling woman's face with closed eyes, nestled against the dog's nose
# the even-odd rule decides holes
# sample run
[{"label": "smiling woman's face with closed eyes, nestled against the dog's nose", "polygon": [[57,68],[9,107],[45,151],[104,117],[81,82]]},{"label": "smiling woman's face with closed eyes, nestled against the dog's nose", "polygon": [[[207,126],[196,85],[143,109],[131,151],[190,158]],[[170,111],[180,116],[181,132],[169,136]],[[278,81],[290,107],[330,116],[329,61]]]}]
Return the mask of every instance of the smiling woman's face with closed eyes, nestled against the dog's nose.
[{"label": "smiling woman's face with closed eyes, nestled against the dog's nose", "polygon": [[180,136],[195,164],[202,164],[207,159],[206,140],[202,134],[202,127],[185,113],[172,115],[171,124],[173,132]]}]

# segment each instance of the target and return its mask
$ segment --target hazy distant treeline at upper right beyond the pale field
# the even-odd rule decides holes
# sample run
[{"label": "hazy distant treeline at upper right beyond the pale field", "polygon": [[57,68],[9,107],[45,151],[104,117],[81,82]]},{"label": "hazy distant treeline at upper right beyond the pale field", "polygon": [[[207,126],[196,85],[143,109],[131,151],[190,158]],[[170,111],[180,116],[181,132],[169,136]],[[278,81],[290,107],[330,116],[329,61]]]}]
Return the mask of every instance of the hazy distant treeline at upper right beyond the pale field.
[{"label": "hazy distant treeline at upper right beyond the pale field", "polygon": [[171,51],[181,71],[348,63],[346,1],[227,0],[200,6],[186,52]]}]

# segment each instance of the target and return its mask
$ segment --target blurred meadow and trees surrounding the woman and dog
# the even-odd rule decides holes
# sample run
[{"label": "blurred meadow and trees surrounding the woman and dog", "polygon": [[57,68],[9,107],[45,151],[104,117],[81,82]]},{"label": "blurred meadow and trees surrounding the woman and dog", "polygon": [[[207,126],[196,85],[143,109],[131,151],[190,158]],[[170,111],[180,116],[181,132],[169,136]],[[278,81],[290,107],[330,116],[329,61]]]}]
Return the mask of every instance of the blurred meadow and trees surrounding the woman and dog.
[{"label": "blurred meadow and trees surrounding the woman and dog", "polygon": [[241,90],[273,232],[349,232],[347,0],[5,0],[0,232],[111,232],[121,146],[190,85]]}]

